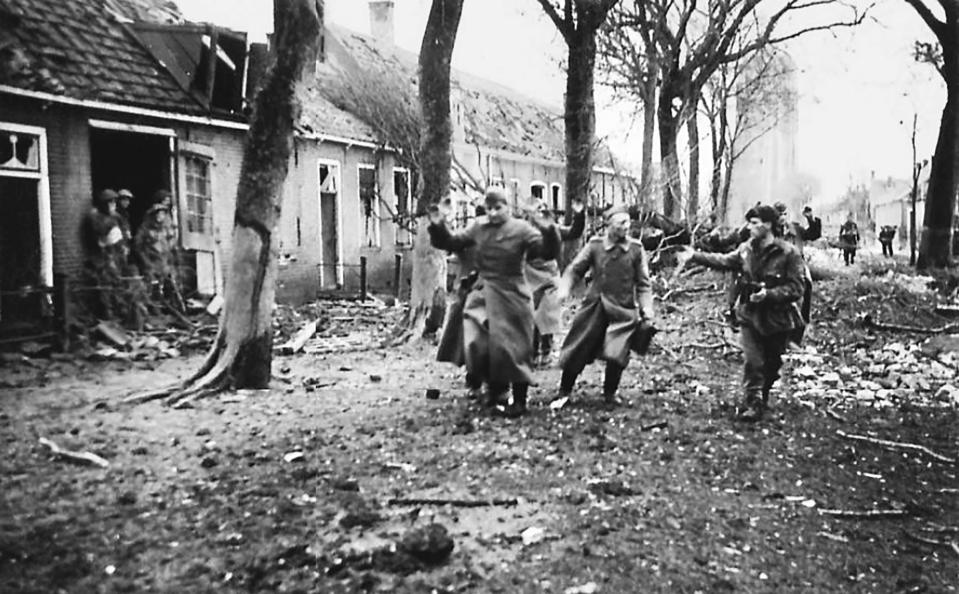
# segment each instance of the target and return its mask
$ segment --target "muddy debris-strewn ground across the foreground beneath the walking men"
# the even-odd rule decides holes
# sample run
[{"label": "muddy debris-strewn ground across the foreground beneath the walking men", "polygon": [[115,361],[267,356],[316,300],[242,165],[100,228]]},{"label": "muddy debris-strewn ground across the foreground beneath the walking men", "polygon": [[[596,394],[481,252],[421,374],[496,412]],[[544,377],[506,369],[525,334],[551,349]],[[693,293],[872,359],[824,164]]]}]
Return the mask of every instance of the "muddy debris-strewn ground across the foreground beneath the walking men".
[{"label": "muddy debris-strewn ground across the foreground beneath the walking men", "polygon": [[[8,363],[0,591],[959,591],[956,359],[855,320],[935,326],[940,298],[867,267],[817,285],[819,323],[753,426],[730,418],[739,359],[708,274],[660,287],[667,331],[614,409],[592,366],[551,410],[548,369],[529,416],[495,418],[428,344],[276,357],[271,390],[185,410],[119,401],[199,354]],[[407,555],[433,523],[452,554]]]}]

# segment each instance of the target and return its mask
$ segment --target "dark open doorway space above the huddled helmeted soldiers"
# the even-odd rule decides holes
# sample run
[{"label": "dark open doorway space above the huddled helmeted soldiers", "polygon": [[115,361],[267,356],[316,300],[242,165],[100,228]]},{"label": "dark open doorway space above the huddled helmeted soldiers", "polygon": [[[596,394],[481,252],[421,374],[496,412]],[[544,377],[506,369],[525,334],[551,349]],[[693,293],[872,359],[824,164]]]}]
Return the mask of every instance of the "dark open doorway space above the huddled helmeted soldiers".
[{"label": "dark open doorway space above the huddled helmeted soldiers", "polygon": [[136,233],[153,194],[170,190],[170,137],[118,130],[90,130],[93,191],[104,188],[133,193],[130,227]]}]

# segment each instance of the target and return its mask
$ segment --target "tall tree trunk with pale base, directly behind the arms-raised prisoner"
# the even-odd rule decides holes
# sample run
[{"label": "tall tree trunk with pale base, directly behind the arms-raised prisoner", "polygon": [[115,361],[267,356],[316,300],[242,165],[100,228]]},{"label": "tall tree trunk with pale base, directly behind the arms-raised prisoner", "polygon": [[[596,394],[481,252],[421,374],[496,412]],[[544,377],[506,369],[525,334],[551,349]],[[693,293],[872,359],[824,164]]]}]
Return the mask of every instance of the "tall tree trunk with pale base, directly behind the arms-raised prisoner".
[{"label": "tall tree trunk with pale base, directly behind the arms-raised prisoner", "polygon": [[443,321],[446,295],[446,256],[430,246],[426,210],[449,197],[453,122],[450,118],[450,62],[463,13],[463,0],[433,0],[419,58],[419,102],[423,121],[420,144],[420,184],[410,332],[435,332]]}]

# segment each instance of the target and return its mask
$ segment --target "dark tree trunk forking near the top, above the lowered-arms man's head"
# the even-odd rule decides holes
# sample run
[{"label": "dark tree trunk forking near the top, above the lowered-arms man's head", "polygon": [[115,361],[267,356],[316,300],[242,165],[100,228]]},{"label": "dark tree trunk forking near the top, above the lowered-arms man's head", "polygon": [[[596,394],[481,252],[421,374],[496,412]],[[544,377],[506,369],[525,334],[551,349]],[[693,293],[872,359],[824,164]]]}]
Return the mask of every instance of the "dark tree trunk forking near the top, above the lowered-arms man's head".
[{"label": "dark tree trunk forking near the top, above the lowered-arms man's head", "polygon": [[572,223],[573,200],[589,203],[593,170],[596,108],[593,73],[596,65],[596,30],[580,23],[568,40],[566,71],[566,224]]}]

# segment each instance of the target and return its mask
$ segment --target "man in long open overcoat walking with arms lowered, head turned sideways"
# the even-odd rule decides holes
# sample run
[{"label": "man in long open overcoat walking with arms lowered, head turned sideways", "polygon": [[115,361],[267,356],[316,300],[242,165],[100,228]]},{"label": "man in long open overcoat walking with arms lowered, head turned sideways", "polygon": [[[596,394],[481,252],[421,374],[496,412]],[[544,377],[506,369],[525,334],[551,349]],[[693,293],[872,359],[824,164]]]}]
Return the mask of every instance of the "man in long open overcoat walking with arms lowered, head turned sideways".
[{"label": "man in long open overcoat walking with arms lowered, head turned sideways", "polygon": [[625,210],[607,211],[605,235],[590,239],[563,276],[560,297],[568,295],[588,270],[593,272],[560,352],[560,398],[572,394],[587,364],[602,359],[606,361],[603,397],[610,404],[618,403],[616,391],[629,362],[630,340],[640,322],[652,319],[649,262],[643,244],[629,237],[629,224]]}]

